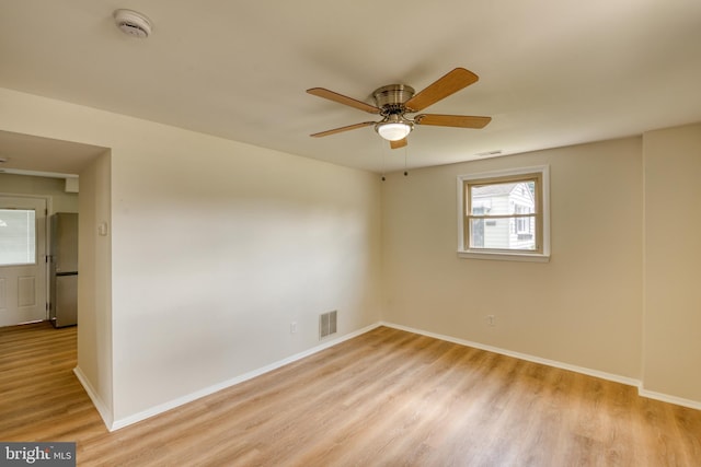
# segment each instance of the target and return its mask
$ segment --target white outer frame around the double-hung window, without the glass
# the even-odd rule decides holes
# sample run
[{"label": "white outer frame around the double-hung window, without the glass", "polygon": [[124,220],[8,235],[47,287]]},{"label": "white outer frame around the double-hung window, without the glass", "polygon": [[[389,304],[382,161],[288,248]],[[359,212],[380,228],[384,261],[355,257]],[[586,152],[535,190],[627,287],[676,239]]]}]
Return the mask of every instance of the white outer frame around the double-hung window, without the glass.
[{"label": "white outer frame around the double-hung window, without the glass", "polygon": [[[464,189],[466,182],[490,180],[501,177],[521,176],[529,174],[541,175],[541,202],[542,202],[542,248],[540,252],[526,250],[490,250],[483,248],[470,248],[466,237],[466,207],[468,200]],[[550,166],[538,165],[531,167],[509,168],[504,171],[482,172],[476,174],[466,174],[458,176],[458,257],[468,259],[496,259],[507,261],[550,261]]]}]

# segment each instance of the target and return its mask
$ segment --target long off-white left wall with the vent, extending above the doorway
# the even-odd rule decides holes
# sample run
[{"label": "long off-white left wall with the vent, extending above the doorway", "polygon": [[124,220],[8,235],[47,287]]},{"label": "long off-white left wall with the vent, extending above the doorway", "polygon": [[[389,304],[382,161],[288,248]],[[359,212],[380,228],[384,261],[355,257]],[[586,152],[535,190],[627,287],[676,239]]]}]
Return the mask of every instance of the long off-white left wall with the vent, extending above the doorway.
[{"label": "long off-white left wall with the vent, extending above the doorway", "polygon": [[111,255],[90,246],[108,283],[81,288],[95,330],[78,343],[103,352],[79,365],[108,422],[319,346],[321,313],[338,311],[337,336],[379,320],[377,175],[2,89],[0,129],[111,149],[110,186],[85,173]]}]

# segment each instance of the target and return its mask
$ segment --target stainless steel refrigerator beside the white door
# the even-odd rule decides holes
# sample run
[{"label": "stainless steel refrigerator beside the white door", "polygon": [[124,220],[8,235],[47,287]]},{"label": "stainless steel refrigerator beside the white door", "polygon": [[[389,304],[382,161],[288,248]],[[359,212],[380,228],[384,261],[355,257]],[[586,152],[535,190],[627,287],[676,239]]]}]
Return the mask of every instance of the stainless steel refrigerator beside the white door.
[{"label": "stainless steel refrigerator beside the white door", "polygon": [[49,319],[55,327],[78,324],[78,214],[51,215]]}]

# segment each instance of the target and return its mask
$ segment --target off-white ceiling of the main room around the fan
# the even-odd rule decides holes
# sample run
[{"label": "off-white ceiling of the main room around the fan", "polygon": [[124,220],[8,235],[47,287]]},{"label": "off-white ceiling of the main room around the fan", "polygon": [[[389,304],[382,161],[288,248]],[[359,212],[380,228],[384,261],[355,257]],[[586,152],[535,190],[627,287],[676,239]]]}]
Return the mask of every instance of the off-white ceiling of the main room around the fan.
[{"label": "off-white ceiling of the main room around the fan", "polygon": [[[151,37],[122,34],[118,8]],[[701,121],[699,0],[3,0],[0,57],[2,87],[376,172]],[[375,117],[309,87],[372,103],[456,67],[480,81],[425,112],[483,130],[309,137]]]}]

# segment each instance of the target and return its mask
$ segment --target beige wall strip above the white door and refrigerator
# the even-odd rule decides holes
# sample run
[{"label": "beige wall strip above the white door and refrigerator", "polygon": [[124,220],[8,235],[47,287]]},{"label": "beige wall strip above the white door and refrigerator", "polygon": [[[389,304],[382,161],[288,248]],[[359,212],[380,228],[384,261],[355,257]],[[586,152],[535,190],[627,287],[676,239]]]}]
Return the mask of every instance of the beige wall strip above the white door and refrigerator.
[{"label": "beige wall strip above the white door and refrigerator", "polygon": [[78,194],[66,192],[64,178],[0,174],[0,192],[12,195],[47,196],[51,212],[78,212]]}]

